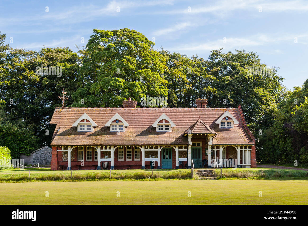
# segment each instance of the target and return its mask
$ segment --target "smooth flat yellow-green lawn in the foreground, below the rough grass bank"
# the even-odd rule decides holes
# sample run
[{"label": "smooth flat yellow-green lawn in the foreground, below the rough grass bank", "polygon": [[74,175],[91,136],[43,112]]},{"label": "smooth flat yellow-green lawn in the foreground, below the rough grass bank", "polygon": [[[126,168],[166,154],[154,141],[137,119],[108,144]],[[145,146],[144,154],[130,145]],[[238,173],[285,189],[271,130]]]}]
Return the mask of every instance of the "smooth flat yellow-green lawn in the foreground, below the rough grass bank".
[{"label": "smooth flat yellow-green lawn in the foreground, below the rough grass bank", "polygon": [[308,180],[0,183],[0,204],[308,204]]}]

